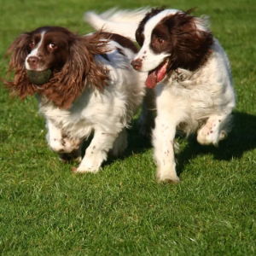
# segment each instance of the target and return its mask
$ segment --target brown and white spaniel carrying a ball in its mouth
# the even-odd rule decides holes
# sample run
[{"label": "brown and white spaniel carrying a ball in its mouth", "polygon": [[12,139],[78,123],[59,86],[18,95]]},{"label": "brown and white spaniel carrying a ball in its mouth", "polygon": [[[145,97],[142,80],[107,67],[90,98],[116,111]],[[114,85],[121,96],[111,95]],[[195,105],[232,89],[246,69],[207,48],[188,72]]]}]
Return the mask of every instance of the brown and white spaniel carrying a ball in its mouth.
[{"label": "brown and white spaniel carrying a ball in its mouth", "polygon": [[[137,48],[131,40],[104,32],[79,36],[58,26],[25,32],[9,48],[8,86],[21,98],[38,95],[39,111],[55,152],[81,156],[81,143],[93,134],[75,172],[97,172],[108,151],[126,147],[129,125],[144,94],[142,75],[131,67]],[[27,71],[51,71],[33,84]]]}]

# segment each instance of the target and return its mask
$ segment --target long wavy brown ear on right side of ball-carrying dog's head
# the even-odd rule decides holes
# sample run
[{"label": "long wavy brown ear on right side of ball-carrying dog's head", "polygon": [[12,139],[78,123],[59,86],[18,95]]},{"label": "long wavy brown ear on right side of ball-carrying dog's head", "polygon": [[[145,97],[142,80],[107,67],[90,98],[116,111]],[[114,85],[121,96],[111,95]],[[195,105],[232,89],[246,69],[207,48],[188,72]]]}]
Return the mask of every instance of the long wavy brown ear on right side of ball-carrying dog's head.
[{"label": "long wavy brown ear on right side of ball-carrying dog's head", "polygon": [[107,71],[96,63],[94,57],[106,53],[105,44],[99,41],[98,34],[74,38],[67,62],[61,71],[54,73],[49,83],[40,87],[38,93],[59,108],[70,108],[86,85],[102,89],[107,82]]}]

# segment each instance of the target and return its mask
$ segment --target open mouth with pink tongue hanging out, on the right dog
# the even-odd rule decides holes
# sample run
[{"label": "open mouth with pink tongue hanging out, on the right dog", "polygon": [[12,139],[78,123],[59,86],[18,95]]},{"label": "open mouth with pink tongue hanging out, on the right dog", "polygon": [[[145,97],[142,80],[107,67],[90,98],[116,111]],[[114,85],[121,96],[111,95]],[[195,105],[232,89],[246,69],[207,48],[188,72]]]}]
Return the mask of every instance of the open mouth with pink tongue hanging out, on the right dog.
[{"label": "open mouth with pink tongue hanging out, on the right dog", "polygon": [[146,80],[146,86],[148,88],[154,88],[156,84],[166,77],[168,63],[169,61],[165,60],[158,67],[148,72],[148,78]]}]

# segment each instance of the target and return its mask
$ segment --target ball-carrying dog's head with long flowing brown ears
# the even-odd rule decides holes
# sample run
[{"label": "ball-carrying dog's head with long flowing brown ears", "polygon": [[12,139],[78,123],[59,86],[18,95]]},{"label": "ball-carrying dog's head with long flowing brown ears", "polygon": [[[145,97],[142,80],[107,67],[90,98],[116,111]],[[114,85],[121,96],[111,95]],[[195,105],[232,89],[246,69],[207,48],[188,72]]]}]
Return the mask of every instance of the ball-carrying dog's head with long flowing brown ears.
[{"label": "ball-carrying dog's head with long flowing brown ears", "polygon": [[[9,70],[15,71],[15,79],[7,84],[21,98],[39,93],[60,108],[70,108],[86,84],[105,83],[106,72],[94,61],[94,55],[106,52],[104,45],[99,33],[81,37],[59,26],[25,32],[9,47]],[[29,79],[28,72],[46,70],[51,76],[43,84]]]}]

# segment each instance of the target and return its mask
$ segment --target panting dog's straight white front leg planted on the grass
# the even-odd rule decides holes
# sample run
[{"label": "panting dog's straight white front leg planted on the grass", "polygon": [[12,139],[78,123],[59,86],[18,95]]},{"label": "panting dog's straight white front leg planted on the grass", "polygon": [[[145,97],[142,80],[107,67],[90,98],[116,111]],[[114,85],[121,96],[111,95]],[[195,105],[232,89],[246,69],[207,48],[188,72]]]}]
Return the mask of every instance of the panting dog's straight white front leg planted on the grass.
[{"label": "panting dog's straight white front leg planted on the grass", "polygon": [[160,114],[155,119],[153,131],[154,159],[157,178],[160,182],[178,183],[174,156],[176,123],[169,114]]}]

